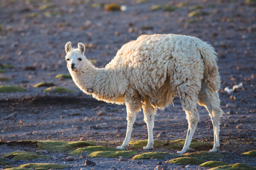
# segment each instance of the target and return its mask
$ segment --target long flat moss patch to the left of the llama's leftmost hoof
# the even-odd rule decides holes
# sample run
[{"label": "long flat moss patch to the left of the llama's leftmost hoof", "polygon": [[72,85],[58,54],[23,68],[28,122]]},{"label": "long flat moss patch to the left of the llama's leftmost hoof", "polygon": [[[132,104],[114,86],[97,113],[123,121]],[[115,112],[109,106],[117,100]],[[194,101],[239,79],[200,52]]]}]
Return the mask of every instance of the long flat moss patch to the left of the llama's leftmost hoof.
[{"label": "long flat moss patch to the left of the llama's leftmost hoof", "polygon": [[95,142],[83,141],[83,142],[37,142],[38,150],[49,150],[52,152],[64,152],[72,150],[74,147],[86,147],[93,146]]}]

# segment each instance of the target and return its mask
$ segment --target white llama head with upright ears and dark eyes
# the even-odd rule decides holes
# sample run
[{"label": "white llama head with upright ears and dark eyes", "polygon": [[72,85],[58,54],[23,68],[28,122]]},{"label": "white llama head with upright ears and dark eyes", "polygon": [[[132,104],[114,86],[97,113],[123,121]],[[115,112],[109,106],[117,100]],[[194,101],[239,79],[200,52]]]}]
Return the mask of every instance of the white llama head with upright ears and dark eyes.
[{"label": "white llama head with upright ears and dark eyes", "polygon": [[81,42],[78,43],[78,48],[72,48],[71,42],[66,43],[65,51],[67,54],[65,60],[69,71],[79,71],[89,66],[90,63],[84,56],[84,49],[84,44]]}]

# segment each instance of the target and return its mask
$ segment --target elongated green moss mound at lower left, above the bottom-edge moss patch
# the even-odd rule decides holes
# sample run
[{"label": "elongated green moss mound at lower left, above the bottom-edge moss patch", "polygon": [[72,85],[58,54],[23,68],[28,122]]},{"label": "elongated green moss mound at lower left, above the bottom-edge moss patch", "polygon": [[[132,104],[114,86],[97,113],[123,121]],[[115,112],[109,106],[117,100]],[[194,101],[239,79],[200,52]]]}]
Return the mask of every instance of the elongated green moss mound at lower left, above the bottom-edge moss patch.
[{"label": "elongated green moss mound at lower left, above the bottom-edge moss patch", "polygon": [[11,153],[6,153],[4,158],[13,158],[16,160],[32,160],[32,159],[38,159],[38,158],[50,158],[50,156],[44,156],[44,155],[35,155],[30,152],[24,152],[24,151],[16,151]]}]

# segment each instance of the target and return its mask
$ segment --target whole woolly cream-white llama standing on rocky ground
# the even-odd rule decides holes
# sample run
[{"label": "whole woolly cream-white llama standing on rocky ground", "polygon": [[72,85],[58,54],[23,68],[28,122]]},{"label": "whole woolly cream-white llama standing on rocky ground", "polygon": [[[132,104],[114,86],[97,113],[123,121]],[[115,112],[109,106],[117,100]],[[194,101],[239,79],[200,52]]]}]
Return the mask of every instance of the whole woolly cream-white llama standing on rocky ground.
[{"label": "whole woolly cream-white llama standing on rocky ground", "polygon": [[219,151],[220,77],[216,52],[208,43],[175,34],[141,35],[123,45],[105,68],[96,68],[86,59],[82,43],[72,48],[67,42],[65,51],[67,68],[81,91],[98,100],[126,105],[127,131],[118,149],[127,148],[141,108],[148,127],[148,144],[143,149],[153,149],[157,108],[173,105],[173,97],[179,96],[188,131],[184,147],[177,153],[189,149],[199,120],[197,103],[205,106],[213,124],[214,146],[209,152]]}]

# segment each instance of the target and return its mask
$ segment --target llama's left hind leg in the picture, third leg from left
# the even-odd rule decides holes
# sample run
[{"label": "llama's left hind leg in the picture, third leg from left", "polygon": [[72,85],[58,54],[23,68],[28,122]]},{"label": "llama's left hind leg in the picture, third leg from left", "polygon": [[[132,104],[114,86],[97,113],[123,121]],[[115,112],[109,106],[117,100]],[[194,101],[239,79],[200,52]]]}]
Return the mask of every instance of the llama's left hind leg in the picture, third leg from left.
[{"label": "llama's left hind leg in the picture, third leg from left", "polygon": [[186,141],[183,149],[177,152],[178,154],[183,154],[186,153],[186,151],[189,149],[189,145],[195,133],[195,128],[199,121],[199,114],[196,109],[196,97],[188,96],[186,93],[184,93],[180,94],[180,99],[182,103],[182,108],[186,112],[186,119],[189,123]]}]

